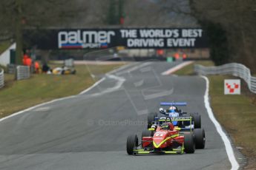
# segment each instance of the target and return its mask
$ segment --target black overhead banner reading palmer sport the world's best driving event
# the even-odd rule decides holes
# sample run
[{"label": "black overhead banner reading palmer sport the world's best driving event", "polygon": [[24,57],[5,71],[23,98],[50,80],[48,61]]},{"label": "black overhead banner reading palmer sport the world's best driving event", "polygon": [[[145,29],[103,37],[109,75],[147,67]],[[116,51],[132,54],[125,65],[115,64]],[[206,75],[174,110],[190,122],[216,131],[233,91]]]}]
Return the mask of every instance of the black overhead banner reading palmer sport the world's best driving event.
[{"label": "black overhead banner reading palmer sport the world's best driving event", "polygon": [[39,49],[130,49],[204,48],[206,33],[200,28],[129,28],[25,30],[24,40]]}]

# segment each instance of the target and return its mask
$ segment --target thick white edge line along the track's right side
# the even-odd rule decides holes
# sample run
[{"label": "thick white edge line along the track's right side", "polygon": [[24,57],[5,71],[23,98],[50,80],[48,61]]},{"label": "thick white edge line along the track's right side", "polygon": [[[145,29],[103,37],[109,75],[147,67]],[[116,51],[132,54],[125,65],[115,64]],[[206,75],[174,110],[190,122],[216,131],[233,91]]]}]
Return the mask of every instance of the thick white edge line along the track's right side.
[{"label": "thick white edge line along the track's right side", "polygon": [[232,170],[237,170],[237,169],[239,169],[239,164],[237,163],[237,160],[234,156],[234,151],[233,151],[231,142],[229,140],[229,137],[227,137],[226,133],[223,132],[223,129],[220,126],[220,123],[216,120],[216,118],[214,117],[214,114],[211,110],[211,106],[210,106],[210,103],[209,103],[209,79],[206,76],[203,76],[203,75],[201,75],[200,77],[206,80],[206,92],[205,92],[205,95],[204,95],[204,103],[205,103],[205,106],[206,106],[207,113],[208,113],[209,118],[212,121],[212,123],[214,123],[214,126],[217,129],[217,132],[220,134],[221,139],[223,140],[223,143],[224,143],[225,148],[226,148],[226,153],[229,157],[229,162],[232,165]]}]

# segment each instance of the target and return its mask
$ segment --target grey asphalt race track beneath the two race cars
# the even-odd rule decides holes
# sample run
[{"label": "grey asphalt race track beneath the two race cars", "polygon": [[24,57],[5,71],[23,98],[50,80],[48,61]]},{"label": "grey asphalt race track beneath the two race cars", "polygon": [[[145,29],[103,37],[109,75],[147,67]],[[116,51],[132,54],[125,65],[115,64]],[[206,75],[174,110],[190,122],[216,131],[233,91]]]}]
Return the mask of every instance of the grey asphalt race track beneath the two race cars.
[{"label": "grey asphalt race track beneath the two race cars", "polygon": [[[0,169],[231,169],[220,135],[206,113],[206,81],[161,75],[179,62],[135,63],[106,75],[85,94],[39,106],[0,122]],[[194,154],[126,153],[146,114],[161,101],[186,101],[199,112],[206,149]]]}]

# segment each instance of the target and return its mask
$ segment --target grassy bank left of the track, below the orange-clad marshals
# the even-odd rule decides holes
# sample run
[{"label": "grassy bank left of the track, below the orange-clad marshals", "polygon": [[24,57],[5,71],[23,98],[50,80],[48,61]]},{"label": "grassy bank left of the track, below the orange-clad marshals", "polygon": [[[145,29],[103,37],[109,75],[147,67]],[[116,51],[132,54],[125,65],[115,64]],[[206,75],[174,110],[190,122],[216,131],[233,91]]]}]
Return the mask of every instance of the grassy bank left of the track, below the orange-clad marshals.
[{"label": "grassy bank left of the track, below the orange-clad marshals", "polygon": [[22,81],[14,81],[14,75],[4,74],[5,86],[0,89],[0,118],[38,103],[76,95],[96,81],[90,72],[104,75],[117,67],[120,65],[78,65],[76,75],[39,74]]}]

